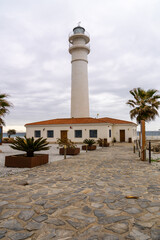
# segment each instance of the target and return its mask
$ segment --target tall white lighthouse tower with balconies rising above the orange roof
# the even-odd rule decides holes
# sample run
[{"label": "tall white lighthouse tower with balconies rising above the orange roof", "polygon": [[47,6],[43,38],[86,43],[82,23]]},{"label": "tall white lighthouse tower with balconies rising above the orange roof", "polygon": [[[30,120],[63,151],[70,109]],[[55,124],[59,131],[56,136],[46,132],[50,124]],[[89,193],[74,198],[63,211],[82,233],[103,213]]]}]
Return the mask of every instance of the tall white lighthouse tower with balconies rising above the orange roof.
[{"label": "tall white lighthouse tower with balconies rising above the orange roof", "polygon": [[89,117],[88,60],[90,38],[85,29],[77,26],[69,35],[72,55],[71,117]]}]

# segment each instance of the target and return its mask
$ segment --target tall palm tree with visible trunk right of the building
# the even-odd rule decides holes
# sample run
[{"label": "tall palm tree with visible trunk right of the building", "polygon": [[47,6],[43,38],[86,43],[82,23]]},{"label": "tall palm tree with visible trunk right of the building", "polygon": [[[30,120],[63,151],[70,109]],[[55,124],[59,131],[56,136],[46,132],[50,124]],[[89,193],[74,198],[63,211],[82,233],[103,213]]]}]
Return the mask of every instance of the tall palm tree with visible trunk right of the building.
[{"label": "tall palm tree with visible trunk right of the building", "polygon": [[[127,102],[127,104],[133,108],[130,111],[130,117],[131,119],[136,118],[137,123],[141,124],[141,131],[142,128],[145,129],[145,122],[155,120],[156,116],[159,116],[158,108],[160,106],[160,95],[156,94],[157,92],[158,90],[156,89],[145,91],[142,88],[134,88],[133,90],[130,90],[130,93],[134,97],[134,100],[128,100]],[[144,145],[145,133],[142,138],[144,139]],[[142,150],[144,150],[143,147],[144,146],[142,146]]]}]

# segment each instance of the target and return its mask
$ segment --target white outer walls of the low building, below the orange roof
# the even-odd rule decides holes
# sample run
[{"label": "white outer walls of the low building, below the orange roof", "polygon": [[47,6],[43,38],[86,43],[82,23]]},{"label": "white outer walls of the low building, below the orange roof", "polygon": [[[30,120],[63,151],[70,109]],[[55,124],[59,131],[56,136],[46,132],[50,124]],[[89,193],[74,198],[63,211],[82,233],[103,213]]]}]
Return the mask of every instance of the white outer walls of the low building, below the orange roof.
[{"label": "white outer walls of the low building, below the orange roof", "polygon": [[[111,130],[111,137],[109,137],[109,129]],[[113,138],[116,141],[120,141],[120,130],[125,130],[125,141],[128,142],[128,138],[132,138],[132,141],[137,139],[137,127],[134,125],[111,125],[111,124],[75,124],[75,125],[30,125],[26,128],[27,137],[34,137],[34,131],[40,130],[41,137],[47,138],[47,130],[54,131],[54,138],[48,138],[49,142],[56,142],[57,138],[61,137],[61,131],[68,131],[68,139],[73,142],[83,142],[85,138],[90,138],[89,130],[97,130],[97,138],[107,138],[108,142],[112,142]],[[82,138],[75,138],[75,130],[82,130]]]}]

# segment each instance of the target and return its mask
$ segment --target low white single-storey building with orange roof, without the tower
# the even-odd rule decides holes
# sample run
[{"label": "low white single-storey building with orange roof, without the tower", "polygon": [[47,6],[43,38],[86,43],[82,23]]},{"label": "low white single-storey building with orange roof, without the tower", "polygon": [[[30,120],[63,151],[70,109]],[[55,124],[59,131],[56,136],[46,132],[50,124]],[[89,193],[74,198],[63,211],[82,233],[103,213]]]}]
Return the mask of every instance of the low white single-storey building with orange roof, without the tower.
[{"label": "low white single-storey building with orange roof, without the tower", "polygon": [[43,137],[49,142],[56,142],[57,138],[68,138],[76,143],[86,138],[128,142],[136,140],[137,125],[113,118],[61,118],[26,124],[26,132],[27,137]]}]

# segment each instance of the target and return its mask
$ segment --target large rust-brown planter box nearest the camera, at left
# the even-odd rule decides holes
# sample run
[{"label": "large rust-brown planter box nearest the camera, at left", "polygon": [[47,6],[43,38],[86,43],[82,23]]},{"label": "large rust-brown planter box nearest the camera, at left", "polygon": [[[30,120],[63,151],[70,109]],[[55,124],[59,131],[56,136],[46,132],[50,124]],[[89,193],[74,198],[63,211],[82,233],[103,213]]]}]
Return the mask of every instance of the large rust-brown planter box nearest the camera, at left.
[{"label": "large rust-brown planter box nearest the camera, at left", "polygon": [[36,154],[26,157],[24,154],[5,157],[5,166],[13,168],[32,168],[48,163],[48,154]]}]

